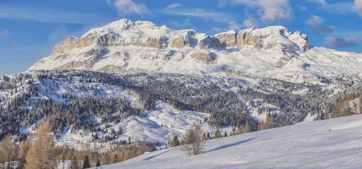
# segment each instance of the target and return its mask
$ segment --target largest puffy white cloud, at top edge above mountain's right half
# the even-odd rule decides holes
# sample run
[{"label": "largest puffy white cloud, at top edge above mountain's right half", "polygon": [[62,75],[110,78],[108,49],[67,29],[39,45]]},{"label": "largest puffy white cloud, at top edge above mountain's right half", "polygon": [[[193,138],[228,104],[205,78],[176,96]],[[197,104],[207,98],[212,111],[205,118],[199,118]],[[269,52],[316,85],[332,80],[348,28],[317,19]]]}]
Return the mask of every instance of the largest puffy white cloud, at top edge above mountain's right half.
[{"label": "largest puffy white cloud, at top edge above mountain's right half", "polygon": [[244,4],[256,8],[263,22],[280,22],[293,17],[289,0],[232,0],[235,4]]}]

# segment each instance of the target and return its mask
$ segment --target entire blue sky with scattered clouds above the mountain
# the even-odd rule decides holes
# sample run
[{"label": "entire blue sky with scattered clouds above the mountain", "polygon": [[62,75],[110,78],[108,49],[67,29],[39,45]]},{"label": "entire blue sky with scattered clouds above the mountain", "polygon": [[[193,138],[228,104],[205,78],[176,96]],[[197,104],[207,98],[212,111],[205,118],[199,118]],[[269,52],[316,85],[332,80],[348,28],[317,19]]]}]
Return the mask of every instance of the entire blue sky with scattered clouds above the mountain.
[{"label": "entire blue sky with scattered clouds above the mountain", "polygon": [[24,71],[68,36],[121,18],[209,34],[283,25],[311,45],[362,52],[362,0],[1,0],[0,74]]}]

